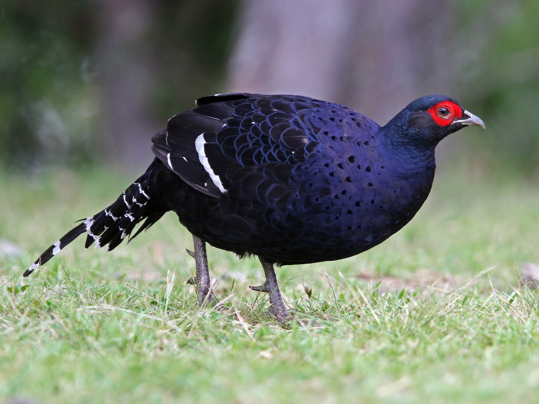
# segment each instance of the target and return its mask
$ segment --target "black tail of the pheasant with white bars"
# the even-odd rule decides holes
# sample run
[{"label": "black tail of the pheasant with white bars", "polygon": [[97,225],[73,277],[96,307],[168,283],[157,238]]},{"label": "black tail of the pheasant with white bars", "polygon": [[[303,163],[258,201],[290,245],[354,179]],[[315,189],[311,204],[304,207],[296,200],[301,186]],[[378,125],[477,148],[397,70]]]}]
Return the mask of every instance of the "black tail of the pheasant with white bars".
[{"label": "black tail of the pheasant with white bars", "polygon": [[163,214],[170,210],[156,200],[158,199],[157,177],[163,170],[167,170],[167,168],[161,161],[155,159],[144,175],[128,186],[112,205],[92,217],[81,219],[84,222],[72,228],[47,248],[23,276],[30,275],[82,233],[88,233],[85,248],[95,242],[95,248],[108,245],[107,251],[110,251],[118,246],[126,236],[129,236],[142,220],[146,219],[137,232],[129,238],[129,241],[161,219]]}]

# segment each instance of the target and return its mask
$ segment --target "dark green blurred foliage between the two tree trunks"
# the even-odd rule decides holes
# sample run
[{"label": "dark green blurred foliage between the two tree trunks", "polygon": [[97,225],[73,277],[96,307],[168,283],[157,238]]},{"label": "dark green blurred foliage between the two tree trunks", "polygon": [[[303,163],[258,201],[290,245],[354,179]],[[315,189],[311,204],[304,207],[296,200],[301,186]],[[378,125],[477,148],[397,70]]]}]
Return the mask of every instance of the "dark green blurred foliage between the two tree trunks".
[{"label": "dark green blurred foliage between the two tree trunks", "polygon": [[223,85],[238,12],[237,0],[156,3],[153,104],[160,122],[193,108],[197,98]]}]

